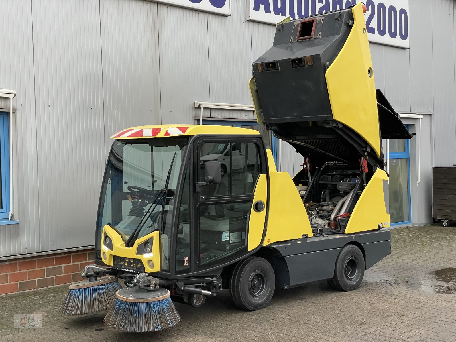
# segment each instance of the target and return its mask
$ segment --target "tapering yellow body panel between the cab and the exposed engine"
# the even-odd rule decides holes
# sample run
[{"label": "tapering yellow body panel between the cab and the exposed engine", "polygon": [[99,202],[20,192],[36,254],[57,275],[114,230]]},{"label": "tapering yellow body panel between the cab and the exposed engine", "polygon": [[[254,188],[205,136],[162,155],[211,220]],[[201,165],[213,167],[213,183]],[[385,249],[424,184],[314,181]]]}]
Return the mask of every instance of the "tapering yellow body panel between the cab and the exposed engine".
[{"label": "tapering yellow body panel between the cab and the exposed engine", "polygon": [[271,150],[269,163],[269,212],[263,246],[277,241],[313,236],[306,208],[288,172],[277,172]]}]

